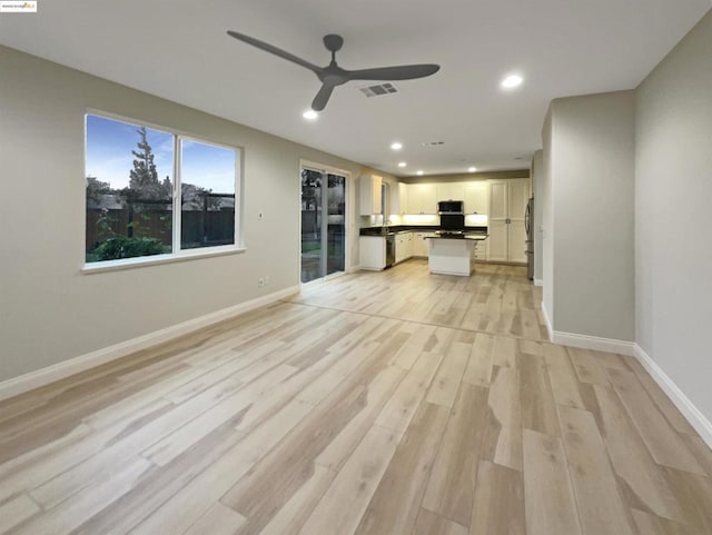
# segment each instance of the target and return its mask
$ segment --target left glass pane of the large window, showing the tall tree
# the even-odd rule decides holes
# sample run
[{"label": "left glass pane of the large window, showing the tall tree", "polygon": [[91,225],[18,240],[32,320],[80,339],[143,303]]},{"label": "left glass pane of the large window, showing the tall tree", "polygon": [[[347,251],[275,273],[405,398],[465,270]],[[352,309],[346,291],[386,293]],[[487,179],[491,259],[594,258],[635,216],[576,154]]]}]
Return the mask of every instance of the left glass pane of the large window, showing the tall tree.
[{"label": "left glass pane of the large window, showing the tall tree", "polygon": [[87,116],[86,261],[170,252],[174,136]]}]

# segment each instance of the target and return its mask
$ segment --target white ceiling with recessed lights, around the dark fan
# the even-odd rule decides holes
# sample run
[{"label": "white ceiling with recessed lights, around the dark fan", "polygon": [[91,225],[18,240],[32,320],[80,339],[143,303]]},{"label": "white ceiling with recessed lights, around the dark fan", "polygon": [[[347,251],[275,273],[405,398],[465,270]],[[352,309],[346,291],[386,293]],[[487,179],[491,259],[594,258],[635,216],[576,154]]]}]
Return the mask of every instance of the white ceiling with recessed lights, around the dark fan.
[{"label": "white ceiling with recessed lights, around the dark fan", "polygon": [[[636,87],[709,9],[709,0],[39,0],[37,14],[0,14],[0,43],[411,176],[528,167],[553,98]],[[323,36],[339,33],[345,69],[442,68],[384,97],[348,82],[307,122],[316,76],[226,30],[316,65],[329,61]],[[504,92],[511,71],[525,82]]]}]

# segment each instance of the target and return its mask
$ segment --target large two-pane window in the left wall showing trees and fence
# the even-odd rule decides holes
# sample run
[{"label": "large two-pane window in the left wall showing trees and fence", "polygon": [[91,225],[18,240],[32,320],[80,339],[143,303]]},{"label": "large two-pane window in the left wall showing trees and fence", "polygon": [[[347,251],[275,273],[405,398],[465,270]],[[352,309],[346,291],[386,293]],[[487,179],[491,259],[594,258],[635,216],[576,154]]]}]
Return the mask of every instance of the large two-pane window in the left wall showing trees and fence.
[{"label": "large two-pane window in the left wall showing trees and fence", "polygon": [[235,249],[237,149],[87,115],[86,262]]}]

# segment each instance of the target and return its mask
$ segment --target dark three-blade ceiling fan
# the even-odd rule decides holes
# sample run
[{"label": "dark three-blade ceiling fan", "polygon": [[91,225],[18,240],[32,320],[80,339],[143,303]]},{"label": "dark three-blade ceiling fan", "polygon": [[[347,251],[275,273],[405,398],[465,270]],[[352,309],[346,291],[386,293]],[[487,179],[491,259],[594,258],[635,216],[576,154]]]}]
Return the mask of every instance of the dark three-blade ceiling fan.
[{"label": "dark three-blade ceiling fan", "polygon": [[359,70],[346,70],[336,65],[336,52],[344,46],[344,39],[342,36],[329,33],[324,36],[324,46],[332,52],[332,62],[326,67],[318,67],[309,61],[294,56],[285,50],[281,50],[273,44],[269,44],[254,37],[238,33],[237,31],[228,31],[228,36],[234,37],[240,41],[244,41],[253,47],[257,47],[266,52],[274,53],[280,58],[291,61],[294,63],[306,67],[313,71],[319,80],[322,80],[322,89],[314,97],[312,102],[312,109],[315,111],[322,111],[326,107],[332,91],[336,86],[346,83],[350,80],[412,80],[414,78],[424,78],[426,76],[434,75],[439,70],[438,65],[423,63],[423,65],[402,65],[397,67],[377,67],[375,69],[359,69]]}]

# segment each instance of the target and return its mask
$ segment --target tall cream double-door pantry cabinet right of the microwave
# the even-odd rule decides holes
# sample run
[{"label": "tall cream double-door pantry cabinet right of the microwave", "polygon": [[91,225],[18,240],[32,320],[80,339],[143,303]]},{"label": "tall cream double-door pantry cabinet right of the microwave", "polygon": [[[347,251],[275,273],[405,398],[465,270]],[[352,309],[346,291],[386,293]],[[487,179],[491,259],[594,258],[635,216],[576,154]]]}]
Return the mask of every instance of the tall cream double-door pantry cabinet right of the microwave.
[{"label": "tall cream double-door pantry cabinet right of the microwave", "polygon": [[524,212],[530,198],[530,179],[490,180],[487,259],[526,262]]}]

